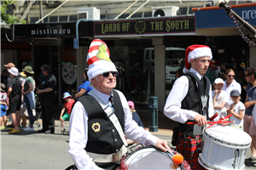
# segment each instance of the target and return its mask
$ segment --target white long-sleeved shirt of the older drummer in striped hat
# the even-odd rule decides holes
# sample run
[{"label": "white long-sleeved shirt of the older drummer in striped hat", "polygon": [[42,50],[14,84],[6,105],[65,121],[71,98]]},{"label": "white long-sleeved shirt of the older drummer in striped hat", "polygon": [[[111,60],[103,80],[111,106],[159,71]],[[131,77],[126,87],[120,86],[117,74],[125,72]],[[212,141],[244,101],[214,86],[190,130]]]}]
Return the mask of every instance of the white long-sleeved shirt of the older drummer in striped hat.
[{"label": "white long-sleeved shirt of the older drummer in striped hat", "polygon": [[[111,105],[108,100],[110,95],[102,94],[96,90],[96,88],[92,90],[99,99]],[[125,112],[125,136],[128,139],[135,140],[137,143],[154,145],[159,138],[144,130],[143,127],[139,127],[137,123],[132,120],[130,107],[124,94],[118,90],[116,90],[116,92],[119,94]],[[86,154],[86,150],[84,150],[88,141],[88,115],[84,110],[84,106],[79,101],[73,106],[69,121],[69,132],[68,152],[78,169],[102,169],[96,166],[90,156]]]}]

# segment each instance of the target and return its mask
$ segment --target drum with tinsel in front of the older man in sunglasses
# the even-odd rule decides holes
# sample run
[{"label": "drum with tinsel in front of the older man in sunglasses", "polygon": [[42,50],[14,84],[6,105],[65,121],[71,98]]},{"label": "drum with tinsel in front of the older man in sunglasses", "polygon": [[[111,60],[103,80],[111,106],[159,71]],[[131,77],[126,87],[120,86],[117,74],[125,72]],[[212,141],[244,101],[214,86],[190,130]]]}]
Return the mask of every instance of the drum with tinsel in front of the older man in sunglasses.
[{"label": "drum with tinsel in front of the older man in sunglasses", "polygon": [[176,154],[172,150],[171,153],[163,152],[154,146],[144,146],[137,150],[133,150],[129,156],[125,158],[125,163],[129,169],[180,169],[190,170],[187,161],[176,165],[172,161],[172,156]]}]

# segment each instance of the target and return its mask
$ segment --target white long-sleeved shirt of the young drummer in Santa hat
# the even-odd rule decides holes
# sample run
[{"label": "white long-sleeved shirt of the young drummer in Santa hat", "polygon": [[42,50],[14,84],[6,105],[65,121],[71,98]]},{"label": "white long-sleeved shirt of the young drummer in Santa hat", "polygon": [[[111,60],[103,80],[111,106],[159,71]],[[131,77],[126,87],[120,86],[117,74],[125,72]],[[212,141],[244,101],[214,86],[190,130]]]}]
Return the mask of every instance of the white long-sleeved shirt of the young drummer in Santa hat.
[{"label": "white long-sleeved shirt of the young drummer in Santa hat", "polygon": [[[194,73],[200,80],[202,78],[198,71],[190,68],[189,72]],[[188,120],[194,120],[195,115],[198,114],[195,111],[189,111],[181,109],[182,101],[186,97],[189,91],[189,79],[185,76],[179,77],[173,84],[172,90],[166,99],[166,105],[164,108],[164,114],[176,122],[187,122]],[[212,87],[209,89],[209,105],[208,105],[209,117],[213,116],[214,109],[212,105]],[[217,118],[217,117],[216,117]],[[214,119],[216,120],[216,119]]]}]

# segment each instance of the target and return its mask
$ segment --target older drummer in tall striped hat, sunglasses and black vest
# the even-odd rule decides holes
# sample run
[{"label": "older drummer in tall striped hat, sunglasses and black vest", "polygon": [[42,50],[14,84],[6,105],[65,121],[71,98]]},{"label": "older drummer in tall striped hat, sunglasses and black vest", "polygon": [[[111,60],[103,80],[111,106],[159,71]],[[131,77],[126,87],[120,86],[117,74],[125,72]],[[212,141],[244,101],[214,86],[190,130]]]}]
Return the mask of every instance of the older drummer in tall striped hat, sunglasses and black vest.
[{"label": "older drummer in tall striped hat, sunglasses and black vest", "polygon": [[125,136],[137,143],[170,150],[166,140],[132,121],[124,94],[113,90],[118,72],[109,56],[105,42],[95,39],[90,43],[87,62],[93,89],[74,104],[69,124],[68,152],[78,169],[118,166],[127,150]]}]

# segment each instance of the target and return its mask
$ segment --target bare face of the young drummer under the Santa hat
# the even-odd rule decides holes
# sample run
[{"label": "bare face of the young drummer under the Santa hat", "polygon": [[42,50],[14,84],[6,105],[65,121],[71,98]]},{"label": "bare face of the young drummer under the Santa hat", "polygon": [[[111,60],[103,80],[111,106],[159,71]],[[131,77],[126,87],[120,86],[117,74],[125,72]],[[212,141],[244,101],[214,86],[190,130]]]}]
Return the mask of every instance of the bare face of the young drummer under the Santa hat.
[{"label": "bare face of the young drummer under the Santa hat", "polygon": [[210,57],[200,57],[197,59],[190,59],[191,67],[198,71],[201,75],[205,74],[210,65]]}]

